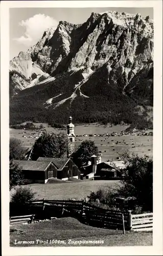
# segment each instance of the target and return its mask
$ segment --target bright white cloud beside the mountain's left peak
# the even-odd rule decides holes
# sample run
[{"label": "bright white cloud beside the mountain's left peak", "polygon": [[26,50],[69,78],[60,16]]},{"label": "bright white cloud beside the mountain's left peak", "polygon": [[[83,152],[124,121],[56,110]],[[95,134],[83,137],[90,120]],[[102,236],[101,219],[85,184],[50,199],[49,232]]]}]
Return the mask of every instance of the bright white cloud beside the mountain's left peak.
[{"label": "bright white cloud beside the mountain's left peak", "polygon": [[41,39],[43,32],[48,28],[57,27],[58,21],[44,14],[36,14],[26,20],[21,20],[19,26],[25,28],[24,35],[14,38],[19,44],[33,46]]}]

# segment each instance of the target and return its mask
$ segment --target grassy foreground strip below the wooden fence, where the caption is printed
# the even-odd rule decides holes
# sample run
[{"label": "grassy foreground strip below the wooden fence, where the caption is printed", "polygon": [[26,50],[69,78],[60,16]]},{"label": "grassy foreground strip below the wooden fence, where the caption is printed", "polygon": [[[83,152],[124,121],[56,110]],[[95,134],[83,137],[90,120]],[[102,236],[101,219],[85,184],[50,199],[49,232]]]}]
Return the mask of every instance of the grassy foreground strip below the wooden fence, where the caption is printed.
[{"label": "grassy foreground strip below the wooden fence, where the caption is printed", "polygon": [[[10,229],[10,246],[150,246],[152,232],[129,232],[122,230],[102,229],[84,225],[74,218],[61,218],[28,225],[12,224]],[[15,231],[14,231],[15,229]],[[37,239],[47,241],[40,244]],[[97,241],[102,244],[68,244],[73,241]],[[16,242],[15,242],[16,240]],[[50,243],[51,240],[51,243]],[[52,244],[52,240],[55,241]],[[18,241],[33,241],[32,244],[16,244]]]}]

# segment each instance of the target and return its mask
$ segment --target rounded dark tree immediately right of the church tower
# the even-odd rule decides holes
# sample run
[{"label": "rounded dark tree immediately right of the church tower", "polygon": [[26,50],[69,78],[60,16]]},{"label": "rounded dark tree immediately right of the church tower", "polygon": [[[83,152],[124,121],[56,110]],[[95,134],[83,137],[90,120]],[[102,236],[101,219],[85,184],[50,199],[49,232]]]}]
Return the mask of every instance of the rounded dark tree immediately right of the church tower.
[{"label": "rounded dark tree immediately right of the church tower", "polygon": [[79,166],[81,166],[87,163],[92,155],[99,155],[98,147],[95,145],[94,141],[84,140],[73,153],[72,158]]}]

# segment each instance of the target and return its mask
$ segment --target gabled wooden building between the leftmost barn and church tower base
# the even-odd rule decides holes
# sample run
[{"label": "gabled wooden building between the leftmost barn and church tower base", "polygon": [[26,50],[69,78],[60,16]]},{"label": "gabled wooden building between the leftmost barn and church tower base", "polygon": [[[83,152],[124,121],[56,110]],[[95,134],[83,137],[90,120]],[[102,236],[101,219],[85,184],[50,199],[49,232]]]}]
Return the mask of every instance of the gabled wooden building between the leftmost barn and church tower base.
[{"label": "gabled wooden building between the leftmost barn and church tower base", "polygon": [[68,178],[80,179],[80,170],[71,158],[45,158],[39,157],[37,161],[52,161],[57,168],[57,178],[68,180]]}]

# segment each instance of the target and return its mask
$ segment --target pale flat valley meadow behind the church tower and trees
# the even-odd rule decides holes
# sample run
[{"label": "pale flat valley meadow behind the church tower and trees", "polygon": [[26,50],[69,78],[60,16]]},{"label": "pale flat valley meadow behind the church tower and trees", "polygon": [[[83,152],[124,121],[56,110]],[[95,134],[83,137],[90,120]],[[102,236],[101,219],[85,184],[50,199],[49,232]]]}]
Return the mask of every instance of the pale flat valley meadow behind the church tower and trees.
[{"label": "pale flat valley meadow behind the church tower and trees", "polygon": [[[36,123],[35,125],[40,125]],[[61,130],[54,129],[53,127],[48,127],[48,124],[43,124],[47,132],[59,133]],[[152,147],[153,147],[153,137],[152,136],[121,136],[121,137],[84,137],[83,135],[87,134],[105,134],[117,132],[120,133],[127,129],[127,125],[113,125],[110,127],[108,124],[106,127],[97,123],[94,124],[83,124],[77,125],[75,127],[75,134],[80,137],[76,137],[76,144],[81,143],[83,140],[90,139],[95,141],[95,144],[98,146],[99,151],[102,153],[102,161],[106,160],[115,160],[120,154],[124,151],[129,150],[140,156],[149,155],[152,156]],[[22,134],[26,132],[26,136]],[[66,134],[66,130],[62,131]],[[34,144],[35,138],[30,138],[34,133],[33,131],[24,131],[24,130],[15,130],[10,129],[10,137],[16,137],[22,141],[22,144],[25,147],[31,148]]]}]

